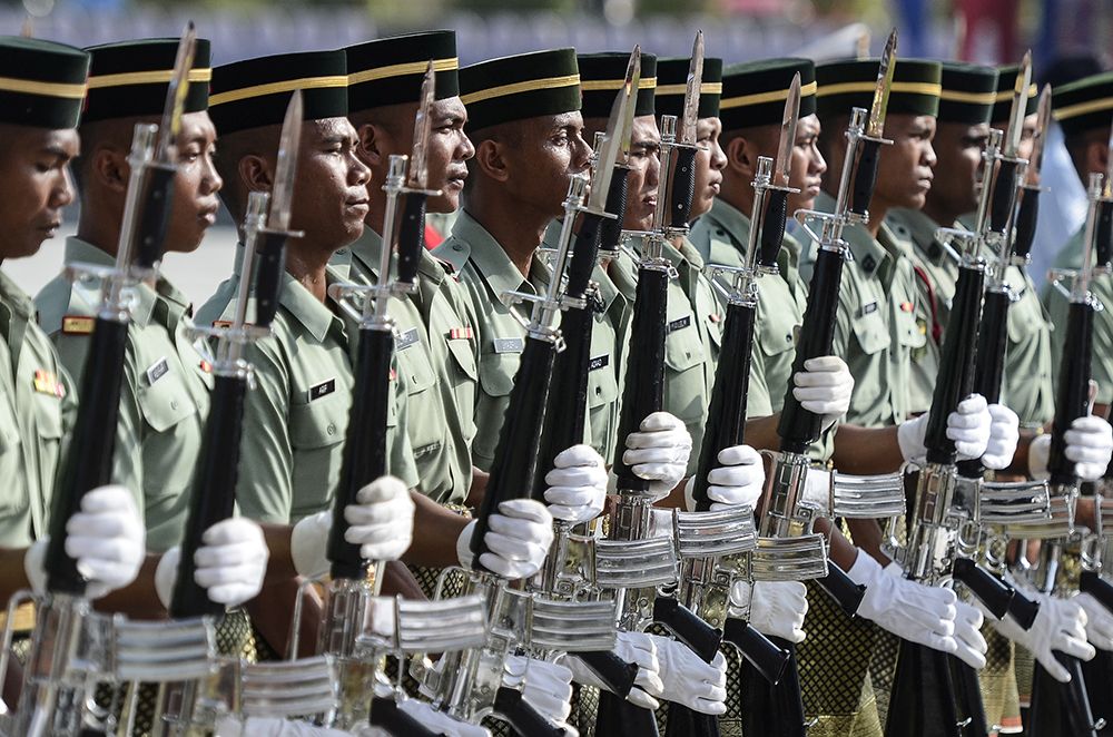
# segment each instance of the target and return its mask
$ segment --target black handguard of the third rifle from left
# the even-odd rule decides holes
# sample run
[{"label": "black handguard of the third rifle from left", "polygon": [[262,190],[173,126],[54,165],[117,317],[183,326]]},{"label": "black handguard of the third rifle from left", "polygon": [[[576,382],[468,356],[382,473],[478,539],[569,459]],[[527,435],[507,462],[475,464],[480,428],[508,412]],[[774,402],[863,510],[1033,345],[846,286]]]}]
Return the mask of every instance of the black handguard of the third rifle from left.
[{"label": "black handguard of the third rifle from left", "polygon": [[390,409],[391,360],[394,335],[390,331],[362,328],[355,363],[352,409],[344,439],[339,485],[333,500],[333,525],[328,531],[328,560],[334,579],[362,581],[368,561],[359,546],[344,539],[348,529],[344,510],[357,501],[359,490],[386,473],[386,421]]}]

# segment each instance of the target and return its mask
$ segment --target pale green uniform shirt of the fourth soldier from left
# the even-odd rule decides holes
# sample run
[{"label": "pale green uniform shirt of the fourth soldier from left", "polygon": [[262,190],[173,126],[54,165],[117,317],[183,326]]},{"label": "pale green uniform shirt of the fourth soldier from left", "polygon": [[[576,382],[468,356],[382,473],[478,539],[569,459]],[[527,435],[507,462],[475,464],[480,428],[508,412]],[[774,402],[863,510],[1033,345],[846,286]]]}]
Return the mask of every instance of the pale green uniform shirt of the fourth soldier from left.
[{"label": "pale green uniform shirt of the fourth soldier from left", "polygon": [[[348,249],[348,278],[359,284],[378,283],[383,238],[371,228]],[[436,259],[422,252],[425,272],[444,269]],[[432,264],[427,264],[432,262]],[[392,268],[397,258],[392,257]],[[424,277],[423,277],[424,278]],[[442,279],[442,284],[452,282]],[[432,297],[431,309],[443,327],[430,327],[421,313],[425,294]],[[416,298],[406,296],[390,301],[387,314],[395,322],[394,353],[398,371],[406,377],[406,434],[413,448],[421,492],[441,503],[460,504],[466,499],[472,482],[471,441],[475,434],[473,419],[475,341],[469,337],[469,318],[457,316],[452,297],[441,289],[424,289]],[[451,317],[445,321],[444,313]],[[454,325],[459,331],[452,337]],[[358,325],[348,325],[349,334]],[[354,345],[354,342],[353,342]],[[457,355],[459,354],[459,355]],[[354,354],[353,354],[354,358]],[[463,404],[463,402],[467,404]]]}]

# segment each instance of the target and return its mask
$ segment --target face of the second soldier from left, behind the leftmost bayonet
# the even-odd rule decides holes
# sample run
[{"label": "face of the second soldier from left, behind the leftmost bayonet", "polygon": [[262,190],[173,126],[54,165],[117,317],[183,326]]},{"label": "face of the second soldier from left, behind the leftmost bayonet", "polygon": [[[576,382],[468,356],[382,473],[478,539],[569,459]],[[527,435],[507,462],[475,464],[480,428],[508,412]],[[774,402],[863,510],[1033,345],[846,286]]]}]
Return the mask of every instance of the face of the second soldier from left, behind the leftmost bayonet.
[{"label": "face of the second soldier from left, behind the leftmost bayonet", "polygon": [[216,127],[208,112],[181,116],[179,166],[174,179],[174,207],[167,226],[167,250],[195,250],[201,244],[205,230],[216,223],[216,214],[220,208],[217,193],[224,180],[213,165],[215,154]]}]

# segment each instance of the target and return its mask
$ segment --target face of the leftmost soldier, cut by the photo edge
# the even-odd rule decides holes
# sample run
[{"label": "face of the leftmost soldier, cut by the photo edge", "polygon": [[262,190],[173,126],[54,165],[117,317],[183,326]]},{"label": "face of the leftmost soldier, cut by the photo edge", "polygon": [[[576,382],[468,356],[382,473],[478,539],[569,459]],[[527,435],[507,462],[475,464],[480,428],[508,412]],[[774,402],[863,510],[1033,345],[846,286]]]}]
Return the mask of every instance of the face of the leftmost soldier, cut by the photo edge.
[{"label": "face of the leftmost soldier, cut by the photo edge", "polygon": [[69,164],[80,150],[73,129],[2,126],[0,135],[0,259],[39,250],[73,202]]}]

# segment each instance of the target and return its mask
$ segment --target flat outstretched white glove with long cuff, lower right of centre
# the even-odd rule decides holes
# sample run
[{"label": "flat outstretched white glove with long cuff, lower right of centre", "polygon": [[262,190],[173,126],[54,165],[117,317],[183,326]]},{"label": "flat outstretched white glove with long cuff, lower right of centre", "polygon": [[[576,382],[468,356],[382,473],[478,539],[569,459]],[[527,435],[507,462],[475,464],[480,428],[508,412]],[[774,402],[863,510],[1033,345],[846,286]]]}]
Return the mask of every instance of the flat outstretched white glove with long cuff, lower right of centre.
[{"label": "flat outstretched white glove with long cuff, lower right of centre", "polygon": [[858,605],[859,615],[902,639],[943,652],[958,650],[954,591],[909,581],[900,574],[896,563],[883,570],[865,550],[858,551],[846,574],[858,586],[866,587]]}]

